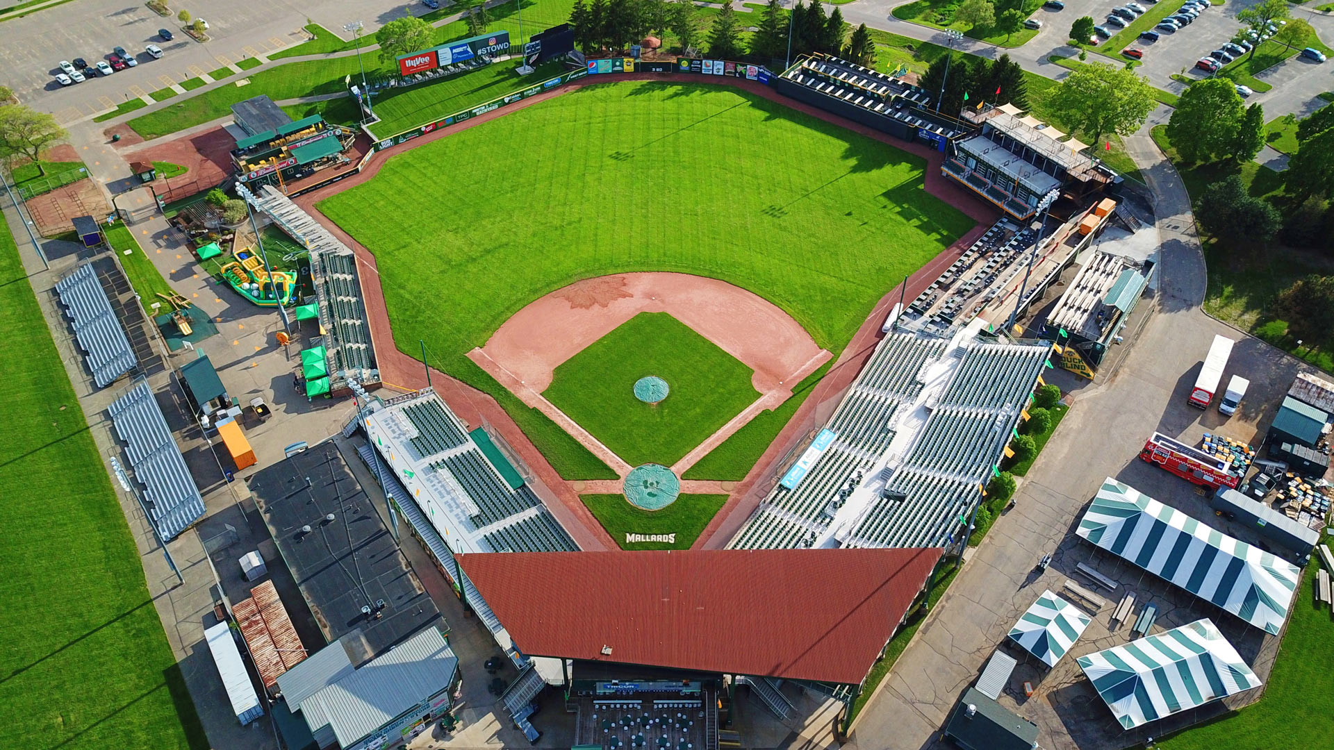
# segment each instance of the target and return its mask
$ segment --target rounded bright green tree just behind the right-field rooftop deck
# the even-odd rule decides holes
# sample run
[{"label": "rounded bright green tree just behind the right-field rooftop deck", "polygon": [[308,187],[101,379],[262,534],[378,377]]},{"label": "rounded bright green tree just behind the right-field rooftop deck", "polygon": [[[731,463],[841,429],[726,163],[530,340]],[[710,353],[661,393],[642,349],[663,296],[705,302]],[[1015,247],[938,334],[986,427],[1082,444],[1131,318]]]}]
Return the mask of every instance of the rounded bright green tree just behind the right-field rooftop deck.
[{"label": "rounded bright green tree just behind the right-field rooftop deck", "polygon": [[1087,135],[1094,144],[1105,135],[1138,131],[1157,105],[1149,79],[1106,63],[1071,71],[1047,97],[1053,117]]}]

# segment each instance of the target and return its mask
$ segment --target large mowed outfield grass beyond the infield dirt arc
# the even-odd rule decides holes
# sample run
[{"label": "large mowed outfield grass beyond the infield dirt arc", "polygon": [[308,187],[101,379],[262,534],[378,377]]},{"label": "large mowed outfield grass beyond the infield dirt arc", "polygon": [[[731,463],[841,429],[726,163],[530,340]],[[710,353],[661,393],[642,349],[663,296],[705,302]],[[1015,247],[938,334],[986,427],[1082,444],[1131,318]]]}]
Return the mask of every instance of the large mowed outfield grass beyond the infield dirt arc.
[{"label": "large mowed outfield grass beyond the infield dirt arc", "polygon": [[[626,271],[738,284],[836,356],[884,290],[974,226],[922,190],[923,171],[915,156],[730,87],[622,81],[395,156],[319,207],[376,254],[399,346],[426,339],[434,364],[498,395],[507,391],[464,352],[534,299]],[[498,179],[451,192],[448,211],[402,202],[439,195],[446,172]],[[708,198],[663,175],[707,176]],[[630,188],[646,176],[655,181]],[[534,410],[507,408],[548,458],[571,440]]]}]

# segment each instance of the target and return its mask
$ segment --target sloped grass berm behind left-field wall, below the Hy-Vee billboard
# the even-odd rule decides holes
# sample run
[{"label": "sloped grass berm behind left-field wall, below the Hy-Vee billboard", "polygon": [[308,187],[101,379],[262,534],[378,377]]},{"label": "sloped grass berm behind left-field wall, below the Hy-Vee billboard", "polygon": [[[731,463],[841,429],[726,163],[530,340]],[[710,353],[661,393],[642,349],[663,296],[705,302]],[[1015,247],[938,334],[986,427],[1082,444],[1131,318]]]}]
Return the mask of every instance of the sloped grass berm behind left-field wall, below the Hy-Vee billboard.
[{"label": "sloped grass berm behind left-field wall, below the Hy-Vee billboard", "polygon": [[540,65],[531,75],[519,76],[514,72],[514,65],[500,63],[450,79],[382,93],[371,100],[371,107],[380,117],[371,129],[379,139],[386,139],[542,83],[564,69],[563,63],[555,61]]}]

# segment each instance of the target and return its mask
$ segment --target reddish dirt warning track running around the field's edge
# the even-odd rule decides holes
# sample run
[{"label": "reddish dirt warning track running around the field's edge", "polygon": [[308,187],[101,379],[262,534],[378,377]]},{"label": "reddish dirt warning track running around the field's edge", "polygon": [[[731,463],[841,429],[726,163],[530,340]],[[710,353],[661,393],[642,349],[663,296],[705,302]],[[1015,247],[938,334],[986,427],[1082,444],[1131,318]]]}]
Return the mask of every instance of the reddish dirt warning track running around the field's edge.
[{"label": "reddish dirt warning track running around the field's edge", "polygon": [[[391,383],[402,388],[420,388],[426,386],[426,374],[420,362],[403,354],[392,344],[394,332],[390,326],[388,310],[384,304],[384,292],[380,287],[379,271],[375,267],[375,256],[366,247],[352,239],[351,235],[339,228],[338,224],[320,214],[315,208],[315,203],[372,179],[379,173],[380,167],[390,157],[411,148],[416,148],[442,137],[448,137],[454,133],[482,125],[496,117],[531,107],[554,96],[562,96],[568,91],[583,88],[584,85],[598,85],[602,83],[627,80],[660,80],[671,83],[674,76],[662,73],[632,73],[614,79],[608,77],[608,80],[580,79],[572,84],[558,87],[550,92],[543,92],[530,99],[524,99],[511,107],[494,109],[484,115],[468,119],[460,125],[438,129],[407,143],[394,145],[372,156],[371,161],[367,163],[366,168],[360,173],[295,199],[297,204],[320,220],[325,228],[328,228],[335,236],[356,252],[358,274],[362,279],[362,294],[366,302],[367,318],[371,324],[372,340],[376,346],[376,360],[380,366],[380,374],[386,383]],[[963,190],[952,180],[947,180],[940,173],[940,164],[944,156],[938,151],[927,148],[926,145],[907,143],[808,104],[782,97],[758,81],[719,76],[712,79],[692,76],[690,79],[675,80],[740,88],[748,93],[783,104],[790,109],[834,123],[848,131],[898,148],[899,151],[906,151],[919,156],[927,163],[923,180],[924,190],[978,222],[978,226],[970,232],[959,238],[954,244],[912,274],[906,282],[906,290],[904,284],[899,284],[890,290],[884,298],[876,303],[875,308],[866,318],[866,322],[852,336],[848,346],[843,350],[843,354],[838,358],[824,378],[820,379],[810,398],[802,403],[802,407],[796,410],[792,419],[788,420],[788,423],[779,432],[778,438],[770,444],[760,459],[750,470],[746,479],[732,490],[727,503],[723,504],[722,510],[714,516],[694,544],[694,548],[718,548],[726,546],[727,540],[740,528],[751,512],[754,512],[759,506],[764,494],[767,494],[768,490],[776,483],[776,468],[779,468],[778,464],[780,459],[810,438],[815,424],[815,416],[818,414],[827,414],[826,404],[836,403],[836,400],[842,398],[843,392],[856,378],[858,372],[862,371],[862,367],[866,366],[875,344],[883,336],[880,326],[883,324],[890,308],[900,299],[900,295],[907,300],[919,295],[931,284],[932,280],[936,279],[936,276],[948,268],[951,263],[958,260],[958,258],[963,255],[964,250],[982,236],[987,227],[995,223],[999,218],[999,211],[990,204],[978,200],[976,196]],[[616,543],[603,530],[602,524],[598,523],[598,519],[588,512],[587,506],[579,500],[579,492],[574,486],[575,483],[567,482],[556,474],[555,468],[552,468],[552,466],[547,462],[546,456],[538,451],[528,436],[519,430],[519,426],[515,424],[514,419],[510,418],[510,415],[500,407],[499,403],[496,403],[495,399],[435,370],[431,371],[431,378],[436,391],[460,419],[467,422],[471,427],[480,424],[482,420],[486,419],[498,432],[500,432],[511,447],[514,447],[520,459],[528,464],[539,479],[551,490],[556,499],[560,500],[559,504],[548,503],[551,511],[556,515],[562,524],[566,526],[580,547],[586,550],[616,548]],[[583,486],[583,483],[579,484]]]}]

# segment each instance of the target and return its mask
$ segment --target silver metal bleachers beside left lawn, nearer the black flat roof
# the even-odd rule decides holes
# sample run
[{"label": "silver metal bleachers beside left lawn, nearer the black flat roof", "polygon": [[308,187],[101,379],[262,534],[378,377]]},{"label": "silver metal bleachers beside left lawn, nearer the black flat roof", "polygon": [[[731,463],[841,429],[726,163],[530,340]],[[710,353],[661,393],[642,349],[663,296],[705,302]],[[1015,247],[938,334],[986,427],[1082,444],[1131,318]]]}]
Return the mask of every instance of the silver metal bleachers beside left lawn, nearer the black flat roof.
[{"label": "silver metal bleachers beside left lawn, nearer the black flat roof", "polygon": [[125,391],[107,407],[107,414],[125,443],[135,479],[145,487],[144,512],[159,536],[173,539],[204,516],[204,498],[199,495],[167,418],[147,383]]}]

